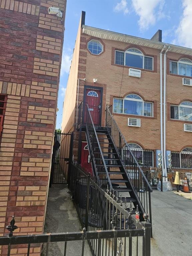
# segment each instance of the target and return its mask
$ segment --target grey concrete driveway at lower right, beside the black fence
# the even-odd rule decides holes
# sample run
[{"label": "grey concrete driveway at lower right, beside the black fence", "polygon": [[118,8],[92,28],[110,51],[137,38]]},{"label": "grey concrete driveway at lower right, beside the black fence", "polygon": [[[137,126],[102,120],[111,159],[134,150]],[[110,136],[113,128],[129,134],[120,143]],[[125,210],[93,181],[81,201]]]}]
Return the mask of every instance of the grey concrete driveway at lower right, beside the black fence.
[{"label": "grey concrete driveway at lower right, beside the black fence", "polygon": [[192,200],[173,191],[151,194],[151,256],[192,255]]}]

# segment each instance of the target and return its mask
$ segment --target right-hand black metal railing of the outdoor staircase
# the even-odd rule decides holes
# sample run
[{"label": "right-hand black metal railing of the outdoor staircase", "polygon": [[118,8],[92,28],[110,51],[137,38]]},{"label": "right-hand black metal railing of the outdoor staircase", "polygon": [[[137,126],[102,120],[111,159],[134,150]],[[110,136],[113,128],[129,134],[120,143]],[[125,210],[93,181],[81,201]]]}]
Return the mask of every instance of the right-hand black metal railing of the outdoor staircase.
[{"label": "right-hand black metal railing of the outdoor staircase", "polygon": [[148,182],[148,179],[143,173],[143,170],[139,166],[136,156],[130,149],[127,141],[121,133],[115,119],[111,114],[112,106],[107,106],[106,109],[106,128],[111,135],[111,138],[116,146],[119,156],[122,160],[124,169],[129,176],[129,180],[132,183],[132,187],[137,194],[140,201],[140,206],[143,208],[143,213],[148,212],[151,222],[151,192],[152,188]]}]

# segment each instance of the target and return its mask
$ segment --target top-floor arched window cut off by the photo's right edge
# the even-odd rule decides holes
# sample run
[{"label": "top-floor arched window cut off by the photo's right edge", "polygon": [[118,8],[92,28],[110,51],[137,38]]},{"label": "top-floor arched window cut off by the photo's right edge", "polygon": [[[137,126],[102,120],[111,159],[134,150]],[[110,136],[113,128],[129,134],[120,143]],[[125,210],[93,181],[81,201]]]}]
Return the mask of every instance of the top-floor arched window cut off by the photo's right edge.
[{"label": "top-floor arched window cut off by the photo's right edge", "polygon": [[170,61],[170,73],[181,76],[192,76],[192,61],[181,59],[178,62]]}]

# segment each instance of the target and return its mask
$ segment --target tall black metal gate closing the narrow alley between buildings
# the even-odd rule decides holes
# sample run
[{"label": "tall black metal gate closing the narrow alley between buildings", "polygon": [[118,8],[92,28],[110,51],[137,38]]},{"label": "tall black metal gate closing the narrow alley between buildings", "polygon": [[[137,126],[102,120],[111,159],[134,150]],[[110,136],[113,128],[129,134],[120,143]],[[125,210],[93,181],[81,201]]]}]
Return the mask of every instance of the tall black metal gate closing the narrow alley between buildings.
[{"label": "tall black metal gate closing the narrow alley between buildings", "polygon": [[51,184],[66,184],[69,161],[72,156],[73,132],[59,133],[55,131],[53,155],[51,163]]}]

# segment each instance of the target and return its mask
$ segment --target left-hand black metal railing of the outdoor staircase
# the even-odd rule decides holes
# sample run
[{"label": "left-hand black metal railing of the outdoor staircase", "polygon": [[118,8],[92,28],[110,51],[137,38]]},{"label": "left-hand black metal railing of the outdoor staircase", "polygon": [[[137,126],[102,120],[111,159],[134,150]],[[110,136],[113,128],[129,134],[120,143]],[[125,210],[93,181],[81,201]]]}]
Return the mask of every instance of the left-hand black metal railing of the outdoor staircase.
[{"label": "left-hand black metal railing of the outdoor staircase", "polygon": [[112,190],[112,184],[107,171],[107,166],[88,105],[86,111],[86,137],[92,165],[94,167],[93,171],[97,181],[104,190],[107,190],[107,185]]}]

